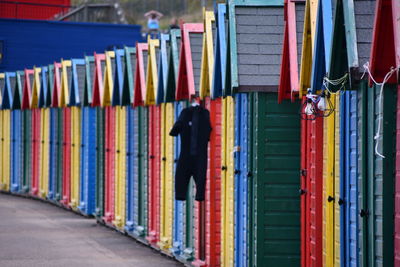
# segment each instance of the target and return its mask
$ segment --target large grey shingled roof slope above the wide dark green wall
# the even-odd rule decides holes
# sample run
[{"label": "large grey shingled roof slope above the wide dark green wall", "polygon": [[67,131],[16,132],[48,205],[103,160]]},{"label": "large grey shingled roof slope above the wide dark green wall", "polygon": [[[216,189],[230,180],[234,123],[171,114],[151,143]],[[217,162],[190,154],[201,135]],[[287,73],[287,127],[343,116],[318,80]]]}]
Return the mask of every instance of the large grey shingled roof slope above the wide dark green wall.
[{"label": "large grey shingled roof slope above the wide dark green wall", "polygon": [[276,90],[283,44],[283,7],[238,6],[235,12],[239,86]]}]

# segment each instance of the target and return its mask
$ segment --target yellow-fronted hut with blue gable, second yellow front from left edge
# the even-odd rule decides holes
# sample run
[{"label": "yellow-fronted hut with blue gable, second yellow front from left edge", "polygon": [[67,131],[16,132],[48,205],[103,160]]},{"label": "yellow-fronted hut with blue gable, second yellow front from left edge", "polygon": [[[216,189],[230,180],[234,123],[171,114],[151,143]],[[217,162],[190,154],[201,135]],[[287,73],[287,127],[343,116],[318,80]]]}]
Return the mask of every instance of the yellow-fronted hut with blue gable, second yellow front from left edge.
[{"label": "yellow-fronted hut with blue gable, second yellow front from left edge", "polygon": [[40,92],[38,95],[38,108],[40,109],[40,158],[39,158],[39,192],[41,198],[46,198],[49,191],[50,171],[50,110],[46,107],[48,90],[48,67],[43,66],[40,75]]}]

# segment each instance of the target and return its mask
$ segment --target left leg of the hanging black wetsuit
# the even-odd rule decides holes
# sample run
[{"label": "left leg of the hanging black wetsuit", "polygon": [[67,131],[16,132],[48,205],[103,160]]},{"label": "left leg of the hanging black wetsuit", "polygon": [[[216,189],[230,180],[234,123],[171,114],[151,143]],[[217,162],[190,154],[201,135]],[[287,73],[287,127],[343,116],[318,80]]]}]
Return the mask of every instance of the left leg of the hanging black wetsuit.
[{"label": "left leg of the hanging black wetsuit", "polygon": [[189,181],[192,176],[192,165],[189,157],[178,160],[175,173],[175,199],[186,200]]}]

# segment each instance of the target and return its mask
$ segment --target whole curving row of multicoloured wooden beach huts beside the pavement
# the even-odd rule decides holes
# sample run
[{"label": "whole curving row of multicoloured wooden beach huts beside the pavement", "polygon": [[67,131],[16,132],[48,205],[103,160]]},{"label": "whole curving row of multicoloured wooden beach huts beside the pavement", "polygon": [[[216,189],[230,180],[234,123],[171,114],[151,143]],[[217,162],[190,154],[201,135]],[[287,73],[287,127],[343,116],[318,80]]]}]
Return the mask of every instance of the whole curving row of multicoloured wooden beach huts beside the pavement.
[{"label": "whole curving row of multicoloured wooden beach huts beside the pavement", "polygon": [[[189,266],[400,265],[400,2],[229,0],[202,23],[0,74],[0,187]],[[210,111],[206,199],[174,199]],[[400,113],[399,113],[400,114]]]}]

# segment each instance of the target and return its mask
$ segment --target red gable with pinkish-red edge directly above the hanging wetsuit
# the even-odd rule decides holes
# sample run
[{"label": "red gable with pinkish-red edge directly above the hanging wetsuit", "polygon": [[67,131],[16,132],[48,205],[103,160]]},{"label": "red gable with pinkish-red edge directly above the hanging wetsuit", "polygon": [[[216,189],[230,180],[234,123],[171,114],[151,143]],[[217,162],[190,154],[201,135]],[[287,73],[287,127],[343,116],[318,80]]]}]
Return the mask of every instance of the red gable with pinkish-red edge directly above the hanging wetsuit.
[{"label": "red gable with pinkish-red edge directly above the hanging wetsuit", "polygon": [[190,99],[196,94],[189,33],[203,32],[203,23],[185,23],[181,26],[182,37],[179,54],[178,84],[175,95],[176,100]]}]

